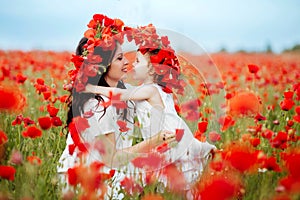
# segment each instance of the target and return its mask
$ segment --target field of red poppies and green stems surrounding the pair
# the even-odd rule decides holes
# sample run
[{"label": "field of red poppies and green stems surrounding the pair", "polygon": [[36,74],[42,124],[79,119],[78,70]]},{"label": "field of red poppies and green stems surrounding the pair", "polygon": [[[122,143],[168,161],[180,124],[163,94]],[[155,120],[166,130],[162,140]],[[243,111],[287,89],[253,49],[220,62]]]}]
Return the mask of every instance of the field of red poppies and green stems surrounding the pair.
[{"label": "field of red poppies and green stems surrounding the pair", "polygon": [[[198,140],[217,147],[189,198],[299,199],[300,54],[196,57],[197,65],[207,69],[203,77],[213,78],[209,69],[216,66],[221,81],[206,84],[194,76],[199,73],[195,68],[181,62],[195,94],[178,101],[176,110]],[[71,58],[70,52],[0,51],[0,199],[103,197],[114,171],[102,173],[101,163],[70,170],[68,181],[74,188],[66,193],[56,172],[68,134]],[[225,112],[217,115],[216,109]],[[151,175],[146,185],[126,177],[120,193],[124,199],[185,199],[180,171],[170,165],[163,173],[172,183],[166,188],[158,191]]]}]

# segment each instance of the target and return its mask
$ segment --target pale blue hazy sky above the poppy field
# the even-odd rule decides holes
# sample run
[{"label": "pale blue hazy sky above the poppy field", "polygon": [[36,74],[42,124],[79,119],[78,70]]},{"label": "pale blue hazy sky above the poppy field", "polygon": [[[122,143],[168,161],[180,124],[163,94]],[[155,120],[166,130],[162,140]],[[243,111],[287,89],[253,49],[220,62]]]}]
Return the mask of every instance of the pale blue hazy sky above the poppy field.
[{"label": "pale blue hazy sky above the poppy field", "polygon": [[207,52],[270,45],[280,53],[300,44],[299,10],[299,0],[9,0],[1,2],[0,49],[74,51],[101,13],[130,26],[152,23]]}]

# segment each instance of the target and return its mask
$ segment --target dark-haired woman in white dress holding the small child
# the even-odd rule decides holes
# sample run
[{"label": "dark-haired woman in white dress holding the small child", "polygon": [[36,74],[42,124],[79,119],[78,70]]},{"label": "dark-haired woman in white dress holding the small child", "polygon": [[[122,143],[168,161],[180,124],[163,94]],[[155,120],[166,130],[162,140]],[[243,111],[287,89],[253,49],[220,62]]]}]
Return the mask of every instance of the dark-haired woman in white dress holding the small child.
[{"label": "dark-haired woman in white dress holding the small child", "polygon": [[[110,99],[101,97],[100,95],[95,96],[91,93],[80,93],[80,88],[82,87],[81,83],[101,85],[104,87],[124,87],[120,80],[124,78],[127,73],[128,61],[124,57],[121,45],[117,39],[113,40],[112,48],[107,48],[107,46],[94,46],[92,51],[88,53],[87,59],[81,59],[80,57],[83,57],[81,55],[85,54],[87,50],[90,50],[87,44],[90,44],[89,39],[83,38],[76,51],[78,56],[76,59],[80,60],[84,66],[78,67],[75,64],[81,71],[76,71],[76,76],[74,76],[76,79],[79,77],[79,80],[74,79],[75,89],[72,94],[72,102],[70,103],[67,122],[68,125],[71,124],[72,120],[76,117],[87,119],[89,128],[81,133],[81,138],[85,144],[88,144],[86,146],[89,151],[84,155],[83,159],[79,157],[81,152],[78,148],[76,148],[74,152],[70,152],[70,146],[74,145],[75,141],[74,137],[71,136],[72,134],[69,134],[66,148],[59,159],[58,172],[62,178],[65,178],[69,168],[74,167],[80,162],[84,162],[84,164],[88,165],[93,161],[101,161],[105,164],[104,170],[108,171],[111,168],[126,165],[136,154],[149,152],[165,141],[175,141],[174,133],[163,132],[149,138],[147,141],[132,146],[131,132],[133,128],[124,132],[120,130],[117,124],[117,121],[120,119],[132,121],[132,115],[128,113],[129,109],[117,109],[114,106],[106,106],[106,104],[110,102]],[[99,57],[101,59],[99,59]],[[90,69],[97,69],[97,71],[93,73]],[[84,76],[84,73],[89,75],[92,73],[93,75]],[[89,116],[87,116],[87,113],[89,113]],[[101,150],[99,150],[99,143]]]}]

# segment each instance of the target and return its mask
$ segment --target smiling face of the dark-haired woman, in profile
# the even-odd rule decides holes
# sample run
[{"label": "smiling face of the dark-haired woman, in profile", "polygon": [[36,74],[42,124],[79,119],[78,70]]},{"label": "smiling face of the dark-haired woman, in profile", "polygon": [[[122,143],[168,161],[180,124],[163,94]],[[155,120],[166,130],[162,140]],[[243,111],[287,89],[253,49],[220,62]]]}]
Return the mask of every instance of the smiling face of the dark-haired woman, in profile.
[{"label": "smiling face of the dark-haired woman, in profile", "polygon": [[123,54],[120,44],[117,44],[117,49],[114,57],[112,58],[111,65],[106,75],[106,81],[110,86],[127,76],[128,60]]}]

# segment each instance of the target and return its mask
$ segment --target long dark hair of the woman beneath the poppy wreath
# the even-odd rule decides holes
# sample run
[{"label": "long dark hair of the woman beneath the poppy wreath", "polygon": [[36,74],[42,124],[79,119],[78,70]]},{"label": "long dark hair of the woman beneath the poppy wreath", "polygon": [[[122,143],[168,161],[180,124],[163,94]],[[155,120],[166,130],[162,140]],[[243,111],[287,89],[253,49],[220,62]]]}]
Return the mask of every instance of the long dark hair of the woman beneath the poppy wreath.
[{"label": "long dark hair of the woman beneath the poppy wreath", "polygon": [[[76,48],[76,55],[82,55],[84,52],[84,45],[87,43],[88,39],[83,37]],[[116,52],[116,48],[113,50],[106,50],[104,51],[101,47],[96,47],[94,49],[95,55],[100,55],[102,58],[101,64],[106,66],[106,71],[104,73],[99,73],[95,77],[89,77],[87,83],[110,87],[108,83],[105,81],[105,76],[109,70],[112,58]],[[100,64],[100,63],[99,63]],[[126,88],[124,83],[119,81],[117,87],[119,88]],[[103,101],[103,98],[100,95],[95,95],[93,93],[77,93],[75,90],[70,94],[70,101],[68,103],[68,116],[67,116],[67,126],[71,123],[74,117],[80,116],[83,113],[83,106],[84,104],[91,98],[95,98],[98,101]],[[106,109],[104,109],[103,115],[105,114]],[[124,116],[126,116],[127,112],[124,110]],[[102,116],[103,116],[102,115]]]}]

